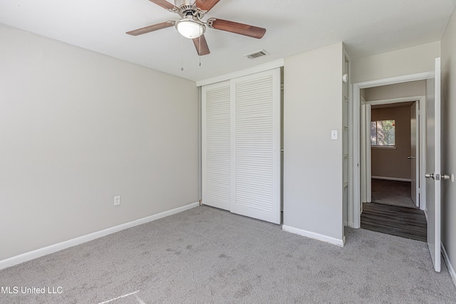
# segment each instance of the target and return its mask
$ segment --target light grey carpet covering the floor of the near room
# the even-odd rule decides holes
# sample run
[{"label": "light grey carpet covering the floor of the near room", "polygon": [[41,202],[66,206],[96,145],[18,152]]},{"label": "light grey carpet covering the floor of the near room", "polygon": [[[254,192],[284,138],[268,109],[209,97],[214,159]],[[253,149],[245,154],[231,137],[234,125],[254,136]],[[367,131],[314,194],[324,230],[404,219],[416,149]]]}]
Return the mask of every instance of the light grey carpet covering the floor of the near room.
[{"label": "light grey carpet covering the floor of the near room", "polygon": [[[346,229],[341,248],[199,206],[0,271],[0,303],[455,303],[425,243]],[[21,288],[60,293],[21,293]],[[60,289],[59,289],[60,288]]]}]

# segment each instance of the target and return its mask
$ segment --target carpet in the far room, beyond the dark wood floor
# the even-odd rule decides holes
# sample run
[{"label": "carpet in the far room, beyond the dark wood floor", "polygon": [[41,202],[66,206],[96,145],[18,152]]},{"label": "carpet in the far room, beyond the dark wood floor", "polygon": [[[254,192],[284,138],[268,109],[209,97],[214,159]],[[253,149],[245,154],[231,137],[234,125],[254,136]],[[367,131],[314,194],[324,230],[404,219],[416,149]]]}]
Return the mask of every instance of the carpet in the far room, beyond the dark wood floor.
[{"label": "carpet in the far room, beyond the dark wood floor", "polygon": [[411,199],[411,183],[372,179],[372,202],[393,206],[417,208]]}]

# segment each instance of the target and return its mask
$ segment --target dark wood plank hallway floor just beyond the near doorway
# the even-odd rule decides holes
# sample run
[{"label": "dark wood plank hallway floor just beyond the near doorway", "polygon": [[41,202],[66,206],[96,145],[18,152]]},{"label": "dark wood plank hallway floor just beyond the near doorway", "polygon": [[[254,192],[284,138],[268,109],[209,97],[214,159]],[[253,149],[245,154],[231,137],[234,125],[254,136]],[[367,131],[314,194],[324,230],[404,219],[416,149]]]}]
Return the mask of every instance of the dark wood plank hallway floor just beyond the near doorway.
[{"label": "dark wood plank hallway floor just beyond the near doorway", "polygon": [[364,203],[361,228],[417,241],[427,241],[424,211],[403,206]]}]

